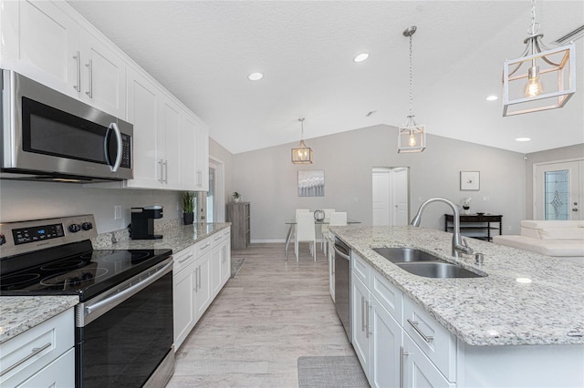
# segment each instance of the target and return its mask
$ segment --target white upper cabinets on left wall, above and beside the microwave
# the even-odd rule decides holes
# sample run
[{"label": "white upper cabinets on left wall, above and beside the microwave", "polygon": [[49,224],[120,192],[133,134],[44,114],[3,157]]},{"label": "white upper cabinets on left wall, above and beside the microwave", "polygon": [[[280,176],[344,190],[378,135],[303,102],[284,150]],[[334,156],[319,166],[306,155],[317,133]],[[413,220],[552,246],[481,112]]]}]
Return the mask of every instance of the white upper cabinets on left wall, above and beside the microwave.
[{"label": "white upper cabinets on left wall, above and beside the microwave", "polygon": [[134,125],[134,179],[91,186],[209,189],[209,130],[65,1],[0,0],[0,67]]}]

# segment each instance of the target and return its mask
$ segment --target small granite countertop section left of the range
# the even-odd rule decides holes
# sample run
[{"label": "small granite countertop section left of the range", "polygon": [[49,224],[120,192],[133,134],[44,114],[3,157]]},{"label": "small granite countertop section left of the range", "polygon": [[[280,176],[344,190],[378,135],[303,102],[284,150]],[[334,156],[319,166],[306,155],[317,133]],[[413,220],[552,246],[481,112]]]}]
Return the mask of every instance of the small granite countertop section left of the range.
[{"label": "small granite countertop section left of the range", "polygon": [[3,296],[0,298],[0,343],[51,319],[78,302],[79,297],[75,295]]}]

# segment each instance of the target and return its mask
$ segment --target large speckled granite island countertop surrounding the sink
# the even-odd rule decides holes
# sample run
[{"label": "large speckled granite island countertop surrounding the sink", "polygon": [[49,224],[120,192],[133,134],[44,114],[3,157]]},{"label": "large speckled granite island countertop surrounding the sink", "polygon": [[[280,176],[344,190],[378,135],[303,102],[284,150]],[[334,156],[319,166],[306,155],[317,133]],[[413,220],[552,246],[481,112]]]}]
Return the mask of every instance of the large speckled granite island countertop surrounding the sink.
[{"label": "large speckled granite island countertop surrounding the sink", "polygon": [[[470,345],[584,343],[584,266],[527,250],[468,239],[485,254],[451,256],[452,233],[414,227],[330,227],[352,250]],[[401,270],[371,248],[412,247],[485,278],[430,279]],[[517,278],[531,283],[517,282]]]}]

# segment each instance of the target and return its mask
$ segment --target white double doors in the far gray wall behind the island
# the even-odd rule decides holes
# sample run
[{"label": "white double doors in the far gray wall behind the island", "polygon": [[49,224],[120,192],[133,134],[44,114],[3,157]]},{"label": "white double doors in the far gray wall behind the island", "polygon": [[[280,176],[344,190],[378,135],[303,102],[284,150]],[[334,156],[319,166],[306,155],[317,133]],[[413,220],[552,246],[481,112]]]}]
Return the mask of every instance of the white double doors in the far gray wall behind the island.
[{"label": "white double doors in the far gray wall behind the island", "polygon": [[373,168],[373,226],[407,225],[410,218],[410,168]]}]

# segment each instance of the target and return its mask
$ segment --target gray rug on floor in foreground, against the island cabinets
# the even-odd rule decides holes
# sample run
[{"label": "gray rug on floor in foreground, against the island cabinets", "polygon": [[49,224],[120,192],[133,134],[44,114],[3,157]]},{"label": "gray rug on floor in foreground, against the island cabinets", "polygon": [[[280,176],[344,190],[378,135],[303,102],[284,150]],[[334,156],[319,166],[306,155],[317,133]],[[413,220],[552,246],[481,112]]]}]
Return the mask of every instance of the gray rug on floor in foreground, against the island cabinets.
[{"label": "gray rug on floor in foreground, against the island cabinets", "polygon": [[298,357],[299,388],[369,388],[356,356]]}]

